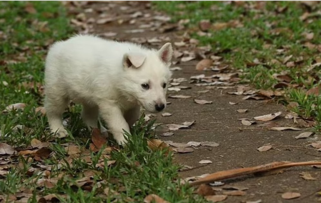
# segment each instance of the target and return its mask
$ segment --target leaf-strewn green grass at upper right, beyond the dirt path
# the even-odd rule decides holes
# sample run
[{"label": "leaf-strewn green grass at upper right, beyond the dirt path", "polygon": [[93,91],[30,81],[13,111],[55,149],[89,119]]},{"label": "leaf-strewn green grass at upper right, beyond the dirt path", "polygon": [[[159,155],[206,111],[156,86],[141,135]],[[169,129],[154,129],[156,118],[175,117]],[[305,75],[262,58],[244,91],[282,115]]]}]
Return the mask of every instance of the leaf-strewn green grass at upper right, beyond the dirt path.
[{"label": "leaf-strewn green grass at upper right, beyond the dirt path", "polygon": [[[230,2],[153,2],[154,9],[165,11],[172,16],[172,21],[189,19],[187,27],[192,37],[201,45],[211,45],[215,55],[222,56],[223,62],[231,67],[242,69],[243,81],[249,81],[257,89],[274,89],[279,81],[273,74],[285,73],[292,78],[291,84],[296,87],[286,89],[286,102],[300,104],[296,112],[303,118],[316,121],[316,130],[321,129],[319,108],[311,109],[309,105],[319,106],[318,97],[307,96],[299,102],[299,94],[318,85],[320,66],[307,72],[311,64],[319,62],[317,48],[307,48],[306,42],[318,45],[321,41],[319,28],[321,18],[316,14],[321,4],[307,7],[300,2],[242,2],[237,5]],[[284,8],[284,9],[282,9]],[[305,21],[300,17],[309,12],[311,16]],[[239,22],[239,27],[230,26],[224,29],[212,28],[212,36],[199,36],[198,24],[201,20],[215,23]],[[311,40],[305,39],[304,33],[314,33]],[[293,67],[283,63],[285,57],[292,55],[289,61]],[[258,65],[249,62],[258,60]],[[277,61],[276,61],[277,60]],[[290,65],[290,64],[288,64]],[[303,92],[303,93],[302,93]],[[317,103],[316,103],[317,102]]]}]

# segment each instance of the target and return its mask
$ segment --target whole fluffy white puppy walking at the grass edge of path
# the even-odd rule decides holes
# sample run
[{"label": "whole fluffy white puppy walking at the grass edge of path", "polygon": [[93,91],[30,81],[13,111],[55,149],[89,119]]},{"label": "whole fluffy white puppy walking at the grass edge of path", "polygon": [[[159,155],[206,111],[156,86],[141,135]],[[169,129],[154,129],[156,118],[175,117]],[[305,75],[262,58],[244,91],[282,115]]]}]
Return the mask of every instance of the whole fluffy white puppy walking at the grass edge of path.
[{"label": "whole fluffy white puppy walking at the grass edge of path", "polygon": [[[45,109],[51,131],[65,136],[62,113],[70,100],[82,104],[82,118],[97,128],[98,115],[119,144],[139,117],[142,106],[156,112],[166,106],[164,83],[171,78],[171,43],[160,50],[128,42],[78,35],[55,43],[49,50],[45,70]],[[142,84],[148,84],[149,89]],[[158,108],[159,111],[159,108]]]}]

